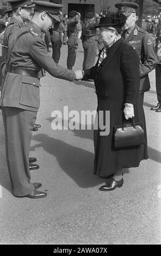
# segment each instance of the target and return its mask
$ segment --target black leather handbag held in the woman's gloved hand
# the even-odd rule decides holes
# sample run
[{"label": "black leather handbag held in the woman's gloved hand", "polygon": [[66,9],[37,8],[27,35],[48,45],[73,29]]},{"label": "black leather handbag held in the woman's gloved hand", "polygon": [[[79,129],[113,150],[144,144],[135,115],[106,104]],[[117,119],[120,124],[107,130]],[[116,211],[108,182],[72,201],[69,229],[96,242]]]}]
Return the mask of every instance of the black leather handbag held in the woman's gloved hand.
[{"label": "black leather handbag held in the woman's gloved hand", "polygon": [[129,123],[124,121],[122,125],[114,126],[115,148],[145,144],[142,123],[134,123],[133,118],[128,120]]}]

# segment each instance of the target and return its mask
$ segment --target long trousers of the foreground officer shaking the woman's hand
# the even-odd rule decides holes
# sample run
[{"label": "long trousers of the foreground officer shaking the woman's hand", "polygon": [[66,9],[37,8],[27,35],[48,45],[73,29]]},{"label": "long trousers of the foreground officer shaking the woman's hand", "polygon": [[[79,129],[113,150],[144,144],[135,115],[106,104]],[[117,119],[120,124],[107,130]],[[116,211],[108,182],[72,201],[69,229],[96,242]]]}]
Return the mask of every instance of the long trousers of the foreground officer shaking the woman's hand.
[{"label": "long trousers of the foreground officer shaking the woman's hand", "polygon": [[2,107],[5,151],[14,195],[23,197],[34,191],[30,182],[29,148],[36,112],[16,107]]}]

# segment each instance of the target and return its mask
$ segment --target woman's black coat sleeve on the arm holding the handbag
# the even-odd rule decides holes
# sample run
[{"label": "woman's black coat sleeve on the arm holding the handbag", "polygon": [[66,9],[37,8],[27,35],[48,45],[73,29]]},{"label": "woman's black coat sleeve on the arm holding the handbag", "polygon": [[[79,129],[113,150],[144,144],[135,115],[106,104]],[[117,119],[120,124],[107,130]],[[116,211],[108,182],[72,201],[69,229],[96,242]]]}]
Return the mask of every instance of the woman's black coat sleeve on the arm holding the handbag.
[{"label": "woman's black coat sleeve on the arm holding the handbag", "polygon": [[126,45],[122,50],[121,72],[125,82],[125,103],[132,103],[135,105],[140,87],[139,58],[133,47],[130,45]]}]

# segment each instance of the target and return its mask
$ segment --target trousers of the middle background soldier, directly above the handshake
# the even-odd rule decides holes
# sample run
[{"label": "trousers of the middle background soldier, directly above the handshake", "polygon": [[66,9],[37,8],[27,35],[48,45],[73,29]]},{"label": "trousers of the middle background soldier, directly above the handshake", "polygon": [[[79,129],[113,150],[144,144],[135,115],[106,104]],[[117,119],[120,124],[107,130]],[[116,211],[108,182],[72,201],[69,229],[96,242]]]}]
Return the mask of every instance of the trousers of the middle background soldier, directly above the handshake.
[{"label": "trousers of the middle background soldier, directly above the handshake", "polygon": [[67,40],[68,52],[67,52],[67,69],[72,69],[76,62],[78,39],[75,36],[70,36]]}]

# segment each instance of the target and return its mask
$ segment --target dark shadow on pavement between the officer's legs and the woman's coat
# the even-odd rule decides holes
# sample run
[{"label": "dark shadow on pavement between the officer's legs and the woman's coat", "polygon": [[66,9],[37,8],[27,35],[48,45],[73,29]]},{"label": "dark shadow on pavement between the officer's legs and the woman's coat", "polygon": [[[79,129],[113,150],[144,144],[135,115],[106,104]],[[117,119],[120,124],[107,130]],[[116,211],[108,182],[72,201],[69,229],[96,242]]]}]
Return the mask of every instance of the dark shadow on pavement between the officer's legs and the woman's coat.
[{"label": "dark shadow on pavement between the officer's legs and the woman's coat", "polygon": [[42,147],[48,154],[56,157],[60,168],[79,187],[95,187],[104,182],[103,179],[93,175],[94,154],[46,134],[34,135],[33,139],[40,143],[34,145],[30,150]]}]

